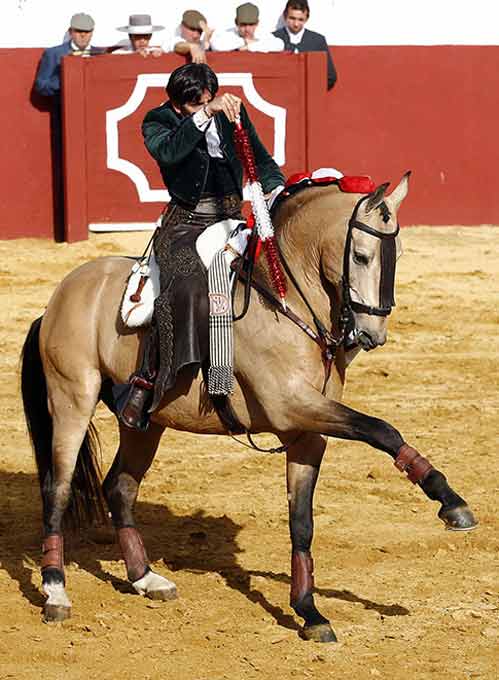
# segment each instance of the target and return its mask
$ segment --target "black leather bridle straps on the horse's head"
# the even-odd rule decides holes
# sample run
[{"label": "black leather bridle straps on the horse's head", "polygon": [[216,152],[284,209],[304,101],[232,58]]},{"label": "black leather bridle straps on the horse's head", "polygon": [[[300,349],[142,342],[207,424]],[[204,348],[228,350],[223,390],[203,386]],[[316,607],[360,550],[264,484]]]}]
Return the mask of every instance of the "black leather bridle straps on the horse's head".
[{"label": "black leather bridle straps on the horse's head", "polygon": [[[369,196],[364,196],[355,206],[355,209],[348,221],[348,231],[345,240],[345,249],[343,252],[343,275],[341,283],[343,287],[343,314],[347,319],[347,326],[349,329],[355,328],[354,312],[358,314],[369,314],[370,316],[388,316],[392,307],[395,306],[395,264],[397,260],[396,237],[399,233],[400,227],[397,224],[395,231],[385,233],[370,227],[363,222],[359,222],[357,214],[361,203],[367,200]],[[390,212],[385,202],[381,203],[379,208],[383,213],[383,220],[388,222]],[[375,236],[381,240],[381,273],[379,279],[379,306],[371,307],[362,302],[352,300],[351,286],[350,286],[350,254],[352,249],[353,230],[359,229],[366,234]]]}]

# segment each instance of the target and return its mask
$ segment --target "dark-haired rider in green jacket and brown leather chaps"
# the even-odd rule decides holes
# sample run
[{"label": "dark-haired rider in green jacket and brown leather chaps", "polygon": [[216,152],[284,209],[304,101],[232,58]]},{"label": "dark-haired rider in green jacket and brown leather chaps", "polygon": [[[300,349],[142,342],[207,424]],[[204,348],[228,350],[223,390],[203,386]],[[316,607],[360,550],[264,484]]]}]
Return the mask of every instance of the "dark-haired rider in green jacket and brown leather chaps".
[{"label": "dark-haired rider in green jacket and brown leather chaps", "polygon": [[131,376],[119,409],[122,422],[137,429],[147,427],[148,414],[174,386],[180,369],[190,366],[195,375],[209,354],[207,275],[195,244],[211,224],[241,218],[243,168],[233,139],[236,118],[248,131],[264,192],[284,184],[240,98],[217,96],[217,91],[217,77],[207,64],[181,66],[166,86],[169,100],[149,111],[142,125],[171,201],[153,241],[161,292],[142,366]]}]

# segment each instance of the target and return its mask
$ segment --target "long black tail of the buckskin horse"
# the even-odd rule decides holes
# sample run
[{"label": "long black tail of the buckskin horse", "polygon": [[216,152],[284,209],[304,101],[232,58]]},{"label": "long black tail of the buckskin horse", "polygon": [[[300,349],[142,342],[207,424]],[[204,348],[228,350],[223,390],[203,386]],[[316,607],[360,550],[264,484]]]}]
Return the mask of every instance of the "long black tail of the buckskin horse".
[{"label": "long black tail of the buckskin horse", "polygon": [[[31,324],[21,353],[21,390],[24,415],[35,453],[42,498],[50,492],[53,481],[52,417],[47,406],[47,381],[40,356],[42,317]],[[76,529],[106,518],[102,494],[102,475],[98,457],[97,431],[90,423],[80,447],[71,481],[71,497],[65,523]]]}]

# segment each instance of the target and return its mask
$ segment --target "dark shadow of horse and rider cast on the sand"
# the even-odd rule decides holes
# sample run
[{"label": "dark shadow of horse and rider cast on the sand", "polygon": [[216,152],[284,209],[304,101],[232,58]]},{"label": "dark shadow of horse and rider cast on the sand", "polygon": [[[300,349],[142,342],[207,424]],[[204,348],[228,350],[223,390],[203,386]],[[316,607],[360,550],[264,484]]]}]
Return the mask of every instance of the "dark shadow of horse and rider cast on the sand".
[{"label": "dark shadow of horse and rider cast on the sand", "polygon": [[[0,499],[0,566],[19,584],[23,596],[31,604],[42,607],[44,597],[36,585],[39,582],[37,572],[41,544],[38,481],[35,475],[0,471],[0,485],[3,490]],[[135,516],[152,562],[162,560],[173,572],[217,573],[229,588],[260,605],[280,626],[291,630],[300,628],[292,614],[269,602],[251,585],[252,576],[289,584],[289,575],[246,570],[238,563],[237,555],[241,550],[237,537],[242,525],[230,517],[212,517],[202,511],[175,515],[167,505],[148,502],[137,503]],[[77,562],[81,569],[111,583],[120,592],[133,592],[128,581],[102,569],[101,559],[121,559],[110,527],[84,530],[79,536],[66,539],[67,561]],[[326,598],[360,603],[383,616],[406,616],[410,613],[401,605],[373,602],[348,590],[316,588],[316,593]]]}]

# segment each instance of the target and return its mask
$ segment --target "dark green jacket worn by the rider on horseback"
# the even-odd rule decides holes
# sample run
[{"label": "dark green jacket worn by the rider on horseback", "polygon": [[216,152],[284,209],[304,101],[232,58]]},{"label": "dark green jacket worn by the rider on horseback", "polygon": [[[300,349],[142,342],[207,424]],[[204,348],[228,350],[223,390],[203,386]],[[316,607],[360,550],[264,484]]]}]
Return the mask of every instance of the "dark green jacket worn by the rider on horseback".
[{"label": "dark green jacket worn by the rider on horseback", "polygon": [[[241,107],[241,122],[249,132],[263,191],[268,193],[279,184],[284,184],[284,177],[259,140],[244,107]],[[242,198],[243,168],[234,146],[234,124],[223,113],[215,115],[215,123],[222,153],[229,163]],[[208,176],[209,155],[204,143],[204,132],[198,130],[190,116],[182,118],[167,102],[149,111],[142,123],[142,134],[147,150],[159,165],[170,195],[181,203],[195,207]]]}]

